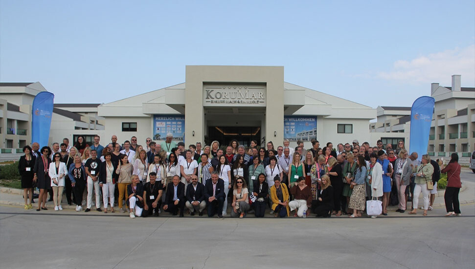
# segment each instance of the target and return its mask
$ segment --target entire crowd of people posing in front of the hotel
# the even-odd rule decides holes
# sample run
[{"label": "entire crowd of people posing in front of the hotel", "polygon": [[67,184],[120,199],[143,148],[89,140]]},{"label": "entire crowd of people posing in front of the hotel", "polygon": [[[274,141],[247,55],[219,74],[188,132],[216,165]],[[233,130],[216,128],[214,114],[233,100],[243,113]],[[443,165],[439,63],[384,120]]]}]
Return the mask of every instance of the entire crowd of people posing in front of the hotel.
[{"label": "entire crowd of people posing in front of the hotel", "polygon": [[461,167],[456,153],[440,169],[442,163],[427,154],[419,163],[418,154],[409,154],[403,141],[394,149],[380,140],[376,146],[354,140],[337,147],[331,142],[320,147],[313,140],[309,149],[302,141],[291,148],[288,140],[276,147],[272,142],[259,147],[256,141],[245,147],[232,140],[229,145],[198,142],[185,148],[172,138],[169,133],[159,144],[147,138],[145,145],[138,145],[135,136],[119,144],[113,135],[103,146],[96,135],[92,145],[79,136],[72,146],[67,138],[51,148],[40,149],[38,143],[24,146],[18,163],[24,208],[33,208],[37,187],[37,211],[48,209],[48,193],[54,210],[63,210],[65,193],[68,205],[75,204],[78,212],[86,196],[85,212],[93,205],[104,213],[118,207],[131,218],[158,216],[162,210],[180,217],[185,213],[264,217],[269,211],[274,217],[358,218],[366,201],[373,199],[382,201],[384,216],[390,201],[398,201],[397,212],[410,208],[408,214],[417,214],[422,209],[427,216],[440,174],[447,173],[447,216],[460,215]]}]

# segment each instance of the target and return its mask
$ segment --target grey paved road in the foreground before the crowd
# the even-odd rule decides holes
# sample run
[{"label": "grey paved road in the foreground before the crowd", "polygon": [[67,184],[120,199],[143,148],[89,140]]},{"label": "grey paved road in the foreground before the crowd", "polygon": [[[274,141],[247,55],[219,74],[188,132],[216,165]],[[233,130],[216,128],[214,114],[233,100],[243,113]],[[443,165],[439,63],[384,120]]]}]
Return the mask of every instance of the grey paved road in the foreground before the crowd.
[{"label": "grey paved road in the foreground before the crowd", "polygon": [[474,269],[475,204],[461,210],[450,218],[437,207],[428,217],[377,219],[130,219],[0,206],[0,268]]}]

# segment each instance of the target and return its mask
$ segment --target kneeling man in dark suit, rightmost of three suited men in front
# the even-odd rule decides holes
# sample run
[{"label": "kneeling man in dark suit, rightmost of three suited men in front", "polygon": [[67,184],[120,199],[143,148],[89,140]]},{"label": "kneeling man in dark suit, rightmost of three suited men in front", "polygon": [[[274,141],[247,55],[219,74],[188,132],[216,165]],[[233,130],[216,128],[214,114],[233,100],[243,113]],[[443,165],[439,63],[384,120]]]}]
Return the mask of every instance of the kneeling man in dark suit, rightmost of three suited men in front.
[{"label": "kneeling man in dark suit, rightmost of three suited men in front", "polygon": [[218,212],[218,218],[223,217],[223,205],[225,203],[225,182],[219,178],[216,171],[211,173],[211,179],[206,181],[204,186],[204,198],[207,205],[208,217],[214,216]]}]

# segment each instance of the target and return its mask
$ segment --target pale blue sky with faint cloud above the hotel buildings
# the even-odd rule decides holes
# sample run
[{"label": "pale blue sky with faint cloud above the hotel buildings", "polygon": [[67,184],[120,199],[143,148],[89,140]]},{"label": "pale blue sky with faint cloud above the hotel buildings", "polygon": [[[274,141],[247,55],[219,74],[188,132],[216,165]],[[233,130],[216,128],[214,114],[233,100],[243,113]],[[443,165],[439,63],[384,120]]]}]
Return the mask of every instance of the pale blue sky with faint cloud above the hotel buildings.
[{"label": "pale blue sky with faint cloud above the hotel buildings", "polygon": [[55,103],[185,82],[185,65],[282,65],[285,81],[376,108],[475,86],[475,1],[0,1],[0,81]]}]

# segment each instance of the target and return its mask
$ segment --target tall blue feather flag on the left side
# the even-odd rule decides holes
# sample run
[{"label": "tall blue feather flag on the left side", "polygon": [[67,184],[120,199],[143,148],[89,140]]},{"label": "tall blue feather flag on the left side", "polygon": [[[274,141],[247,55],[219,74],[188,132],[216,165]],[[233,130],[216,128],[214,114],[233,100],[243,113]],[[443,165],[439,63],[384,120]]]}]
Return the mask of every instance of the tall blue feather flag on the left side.
[{"label": "tall blue feather flag on the left side", "polygon": [[53,115],[54,94],[43,91],[33,100],[31,120],[31,143],[37,142],[40,147],[48,145],[51,116]]}]

